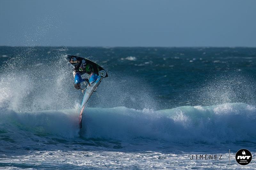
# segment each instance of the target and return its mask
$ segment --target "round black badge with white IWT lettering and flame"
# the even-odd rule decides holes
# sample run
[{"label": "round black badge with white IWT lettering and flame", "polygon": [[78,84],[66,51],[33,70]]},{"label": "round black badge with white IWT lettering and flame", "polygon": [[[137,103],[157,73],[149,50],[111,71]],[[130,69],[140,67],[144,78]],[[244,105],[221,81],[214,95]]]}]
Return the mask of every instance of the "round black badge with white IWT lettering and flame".
[{"label": "round black badge with white IWT lettering and flame", "polygon": [[247,149],[236,152],[236,162],[240,165],[248,165],[252,161],[252,153]]}]

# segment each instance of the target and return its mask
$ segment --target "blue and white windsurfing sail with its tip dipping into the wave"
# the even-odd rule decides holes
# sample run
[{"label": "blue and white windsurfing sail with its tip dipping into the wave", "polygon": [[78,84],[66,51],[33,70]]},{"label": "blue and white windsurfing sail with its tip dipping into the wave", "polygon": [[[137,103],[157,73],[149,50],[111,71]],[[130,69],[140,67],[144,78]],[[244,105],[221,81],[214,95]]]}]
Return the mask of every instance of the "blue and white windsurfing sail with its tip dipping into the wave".
[{"label": "blue and white windsurfing sail with its tip dipping into the wave", "polygon": [[81,103],[81,106],[79,109],[79,128],[82,128],[82,114],[83,114],[84,108],[86,106],[86,103],[88,102],[89,98],[92,96],[92,93],[94,91],[96,91],[102,78],[103,77],[101,77],[95,73],[91,74],[91,77],[89,79],[90,85],[88,85],[87,88],[85,89],[84,97],[83,97],[83,100],[82,100],[82,103]]}]

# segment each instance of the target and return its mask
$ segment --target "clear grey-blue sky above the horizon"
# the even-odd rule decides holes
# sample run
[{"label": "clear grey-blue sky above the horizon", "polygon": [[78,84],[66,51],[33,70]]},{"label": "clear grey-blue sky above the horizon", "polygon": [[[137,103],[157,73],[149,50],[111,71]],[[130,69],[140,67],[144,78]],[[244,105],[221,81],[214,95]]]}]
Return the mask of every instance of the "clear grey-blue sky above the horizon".
[{"label": "clear grey-blue sky above the horizon", "polygon": [[0,45],[256,47],[256,0],[0,0]]}]

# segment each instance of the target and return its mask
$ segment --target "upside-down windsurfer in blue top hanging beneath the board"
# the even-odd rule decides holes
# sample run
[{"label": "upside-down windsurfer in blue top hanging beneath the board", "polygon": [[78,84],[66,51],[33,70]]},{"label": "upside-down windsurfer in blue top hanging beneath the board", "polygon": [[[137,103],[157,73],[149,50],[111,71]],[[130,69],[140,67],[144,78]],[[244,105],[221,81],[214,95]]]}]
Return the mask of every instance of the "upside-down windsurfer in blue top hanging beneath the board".
[{"label": "upside-down windsurfer in blue top hanging beneath the board", "polygon": [[[81,89],[80,83],[86,81],[90,85],[88,79],[82,79],[81,74],[86,73],[86,70],[91,70],[90,65],[86,65],[84,59],[77,60],[76,58],[71,58],[70,63],[74,64],[73,76],[75,80],[75,88]],[[87,72],[88,73],[88,72]]]}]

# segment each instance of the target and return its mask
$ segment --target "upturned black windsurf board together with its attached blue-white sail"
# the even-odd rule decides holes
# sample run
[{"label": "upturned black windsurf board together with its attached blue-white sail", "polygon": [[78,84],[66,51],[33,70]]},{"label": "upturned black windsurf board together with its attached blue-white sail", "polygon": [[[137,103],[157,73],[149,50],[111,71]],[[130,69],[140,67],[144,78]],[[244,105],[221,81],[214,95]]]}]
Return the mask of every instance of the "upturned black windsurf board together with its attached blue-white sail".
[{"label": "upturned black windsurf board together with its attached blue-white sail", "polygon": [[79,128],[82,128],[82,115],[84,108],[89,98],[92,96],[92,93],[96,91],[102,79],[108,77],[108,73],[101,66],[87,58],[68,55],[66,59],[73,66],[76,66],[78,62],[82,62],[84,60],[85,66],[81,68],[81,70],[79,68],[79,73],[81,75],[84,73],[90,74],[90,84],[86,87],[86,89],[83,90],[84,97],[79,109]]}]

